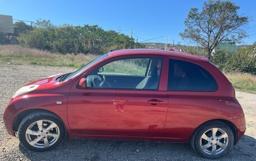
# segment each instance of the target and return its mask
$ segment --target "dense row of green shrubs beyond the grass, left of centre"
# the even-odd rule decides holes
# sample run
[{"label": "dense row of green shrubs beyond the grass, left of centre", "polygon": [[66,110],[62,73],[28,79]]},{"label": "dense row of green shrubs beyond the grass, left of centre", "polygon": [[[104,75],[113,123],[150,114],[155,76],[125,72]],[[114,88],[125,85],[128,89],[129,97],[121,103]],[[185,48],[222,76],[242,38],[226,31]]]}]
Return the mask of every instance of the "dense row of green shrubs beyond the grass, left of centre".
[{"label": "dense row of green shrubs beyond the grass, left of centre", "polygon": [[52,26],[51,21],[38,20],[33,30],[21,33],[21,45],[58,53],[104,54],[111,49],[142,47],[134,39],[116,31],[105,31],[98,25]]}]

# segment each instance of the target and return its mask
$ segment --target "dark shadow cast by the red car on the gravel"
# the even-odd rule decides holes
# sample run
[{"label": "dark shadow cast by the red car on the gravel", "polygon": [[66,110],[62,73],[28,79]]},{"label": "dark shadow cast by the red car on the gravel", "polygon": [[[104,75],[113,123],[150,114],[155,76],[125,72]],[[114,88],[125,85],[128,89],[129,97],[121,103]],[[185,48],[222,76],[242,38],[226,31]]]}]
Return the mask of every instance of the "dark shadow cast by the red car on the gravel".
[{"label": "dark shadow cast by the red car on the gravel", "polygon": [[[244,135],[220,160],[255,160],[256,139]],[[68,139],[56,149],[33,152],[19,149],[30,160],[208,160],[202,159],[189,143],[124,140]]]}]

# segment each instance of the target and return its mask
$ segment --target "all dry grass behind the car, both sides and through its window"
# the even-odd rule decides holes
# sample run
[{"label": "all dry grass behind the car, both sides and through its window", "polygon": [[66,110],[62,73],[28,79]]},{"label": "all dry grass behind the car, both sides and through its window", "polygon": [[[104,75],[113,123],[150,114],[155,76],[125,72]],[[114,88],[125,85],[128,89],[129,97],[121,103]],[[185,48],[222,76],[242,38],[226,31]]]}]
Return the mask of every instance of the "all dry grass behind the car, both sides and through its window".
[{"label": "all dry grass behind the car, both sides and through its window", "polygon": [[[18,60],[28,62],[32,65],[43,66],[61,66],[79,68],[86,63],[92,61],[97,56],[93,54],[60,54],[52,53],[44,50],[30,49],[22,47],[21,45],[0,45],[0,60]],[[113,71],[120,71],[120,69],[129,69],[130,64],[122,63],[116,68],[109,69]],[[106,68],[107,69],[107,68]],[[142,68],[134,66],[132,73],[143,72]],[[128,71],[127,71],[128,72]],[[226,77],[236,89],[256,91],[256,76],[248,73],[225,73]]]}]

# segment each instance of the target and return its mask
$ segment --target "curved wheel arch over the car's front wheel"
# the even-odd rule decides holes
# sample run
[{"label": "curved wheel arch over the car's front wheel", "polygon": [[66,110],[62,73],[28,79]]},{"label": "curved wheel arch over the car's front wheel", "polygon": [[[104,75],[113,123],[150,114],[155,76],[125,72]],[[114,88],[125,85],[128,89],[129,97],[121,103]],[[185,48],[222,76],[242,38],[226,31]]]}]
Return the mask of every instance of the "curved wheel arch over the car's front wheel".
[{"label": "curved wheel arch over the car's front wheel", "polygon": [[22,119],[24,119],[26,116],[28,116],[30,113],[33,113],[33,112],[48,112],[48,113],[52,113],[54,114],[55,116],[57,116],[63,123],[64,125],[64,128],[65,128],[65,133],[67,135],[67,127],[65,125],[65,123],[63,122],[63,120],[61,119],[60,116],[58,116],[56,113],[52,112],[52,111],[49,111],[47,109],[40,109],[40,108],[36,108],[36,109],[26,109],[25,111],[22,111],[20,112],[19,114],[17,114],[15,116],[15,118],[13,119],[13,123],[12,123],[12,130],[14,132],[17,132],[18,129],[19,129],[19,126],[20,126],[20,123],[22,121]]}]

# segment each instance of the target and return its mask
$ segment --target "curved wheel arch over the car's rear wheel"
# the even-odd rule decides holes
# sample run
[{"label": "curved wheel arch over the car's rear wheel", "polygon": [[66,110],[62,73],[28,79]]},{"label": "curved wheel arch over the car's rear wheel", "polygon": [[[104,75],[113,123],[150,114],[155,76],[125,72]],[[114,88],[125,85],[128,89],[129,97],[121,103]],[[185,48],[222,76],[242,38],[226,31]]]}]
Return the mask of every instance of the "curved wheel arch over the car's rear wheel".
[{"label": "curved wheel arch over the car's rear wheel", "polygon": [[201,125],[199,125],[193,132],[193,134],[190,136],[190,141],[191,139],[194,138],[196,132],[198,131],[199,128],[203,127],[205,125],[205,123],[208,123],[208,122],[212,122],[212,121],[220,121],[220,122],[223,122],[225,123],[228,127],[231,128],[233,134],[234,134],[234,145],[237,143],[237,137],[238,137],[238,134],[237,134],[237,128],[236,126],[234,125],[234,123],[232,123],[231,121],[228,121],[226,119],[211,119],[209,121],[205,121],[204,123],[202,123]]}]

